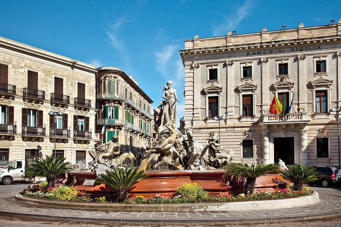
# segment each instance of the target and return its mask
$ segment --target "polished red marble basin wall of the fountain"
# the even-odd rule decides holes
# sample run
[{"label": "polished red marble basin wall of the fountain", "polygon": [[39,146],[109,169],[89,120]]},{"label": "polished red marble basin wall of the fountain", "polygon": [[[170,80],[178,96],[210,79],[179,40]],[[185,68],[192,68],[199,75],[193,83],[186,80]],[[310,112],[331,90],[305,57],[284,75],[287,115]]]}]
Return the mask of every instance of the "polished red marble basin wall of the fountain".
[{"label": "polished red marble basin wall of the fountain", "polygon": [[[193,182],[203,187],[210,196],[215,196],[220,192],[228,192],[229,195],[243,193],[245,179],[226,178],[223,177],[224,173],[224,170],[146,171],[149,177],[135,184],[129,197],[135,198],[142,195],[150,198],[155,193],[172,196],[178,186]],[[94,172],[70,171],[69,175],[73,178],[69,186],[83,192],[86,190],[87,194],[95,197],[108,196],[114,191],[100,183],[95,183],[93,187],[82,186],[85,179],[96,179]],[[70,182],[69,179],[67,182]],[[286,188],[287,185],[288,182],[277,173],[270,173],[256,180],[256,189],[266,192],[274,192],[276,187]]]}]

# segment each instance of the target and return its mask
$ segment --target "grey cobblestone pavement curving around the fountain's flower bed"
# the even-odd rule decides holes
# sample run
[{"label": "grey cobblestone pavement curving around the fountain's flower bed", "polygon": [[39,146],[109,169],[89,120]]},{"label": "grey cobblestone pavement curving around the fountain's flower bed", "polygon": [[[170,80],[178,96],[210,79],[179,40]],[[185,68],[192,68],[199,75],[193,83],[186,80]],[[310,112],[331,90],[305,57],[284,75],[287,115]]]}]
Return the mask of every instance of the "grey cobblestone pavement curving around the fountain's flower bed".
[{"label": "grey cobblestone pavement curving around the fountain's flower bed", "polygon": [[[30,205],[14,200],[15,194],[27,187],[27,184],[0,185],[0,214],[15,215],[29,218],[49,219],[48,221],[39,221],[44,223],[54,222],[52,220],[62,221],[81,221],[81,222],[103,222],[103,223],[150,223],[154,225],[174,225],[174,224],[239,224],[244,223],[265,223],[297,221],[301,219],[312,218],[331,218],[334,214],[341,214],[341,188],[321,188],[313,187],[320,195],[320,201],[314,205],[305,207],[294,207],[290,209],[275,210],[249,210],[249,211],[205,211],[205,212],[125,212],[108,211],[94,209],[72,209],[61,207],[49,207],[41,205]],[[18,217],[11,217],[18,218]],[[8,220],[8,219],[6,219]],[[338,219],[340,220],[340,218]],[[312,220],[309,220],[312,221]],[[60,222],[60,221],[59,221]],[[301,225],[307,226],[307,224]],[[338,222],[340,223],[340,221]],[[65,223],[66,224],[66,223]],[[275,223],[273,223],[275,224]],[[295,223],[292,223],[293,226]],[[0,222],[0,226],[2,221]],[[95,226],[95,224],[91,224]],[[91,226],[89,224],[89,226]],[[124,225],[122,225],[124,226]],[[272,226],[272,225],[271,225]],[[276,226],[276,225],[274,225]],[[281,225],[277,225],[281,226]],[[300,226],[300,225],[297,225]],[[310,226],[310,224],[308,225]],[[317,225],[319,226],[319,225]],[[332,226],[332,225],[327,225]],[[333,225],[335,226],[335,225]]]}]

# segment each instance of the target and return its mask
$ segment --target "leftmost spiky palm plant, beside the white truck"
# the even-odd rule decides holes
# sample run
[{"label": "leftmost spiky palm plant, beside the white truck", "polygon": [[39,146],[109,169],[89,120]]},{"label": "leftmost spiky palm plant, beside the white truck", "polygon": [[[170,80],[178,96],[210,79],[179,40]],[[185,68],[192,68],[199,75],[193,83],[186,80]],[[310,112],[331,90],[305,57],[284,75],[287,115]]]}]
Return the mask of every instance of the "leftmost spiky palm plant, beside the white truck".
[{"label": "leftmost spiky palm plant, beside the white truck", "polygon": [[73,169],[70,162],[65,162],[66,158],[62,158],[60,155],[54,159],[53,155],[46,158],[38,157],[33,160],[33,164],[29,165],[25,170],[25,174],[29,177],[38,176],[46,177],[48,187],[56,186],[56,175],[66,173]]}]

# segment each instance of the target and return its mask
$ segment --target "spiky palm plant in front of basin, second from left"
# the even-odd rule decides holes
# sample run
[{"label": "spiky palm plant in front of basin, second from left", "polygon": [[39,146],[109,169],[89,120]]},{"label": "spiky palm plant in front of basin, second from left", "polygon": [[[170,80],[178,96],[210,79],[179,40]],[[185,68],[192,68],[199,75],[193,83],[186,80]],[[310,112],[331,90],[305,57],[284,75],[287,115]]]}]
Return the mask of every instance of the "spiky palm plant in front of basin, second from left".
[{"label": "spiky palm plant in front of basin, second from left", "polygon": [[137,171],[138,168],[114,169],[114,171],[106,170],[105,174],[101,174],[97,178],[97,182],[105,184],[117,190],[118,202],[123,202],[128,198],[128,192],[134,184],[148,177],[143,170]]}]

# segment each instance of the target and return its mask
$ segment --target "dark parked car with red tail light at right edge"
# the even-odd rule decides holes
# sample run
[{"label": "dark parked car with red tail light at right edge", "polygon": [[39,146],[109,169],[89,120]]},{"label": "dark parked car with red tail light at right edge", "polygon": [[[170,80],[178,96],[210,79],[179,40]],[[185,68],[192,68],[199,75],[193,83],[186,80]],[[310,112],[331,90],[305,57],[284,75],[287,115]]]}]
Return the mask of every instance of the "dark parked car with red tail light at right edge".
[{"label": "dark parked car with red tail light at right edge", "polygon": [[317,180],[309,182],[310,186],[321,184],[329,187],[330,184],[341,183],[341,169],[329,166],[316,166]]}]

